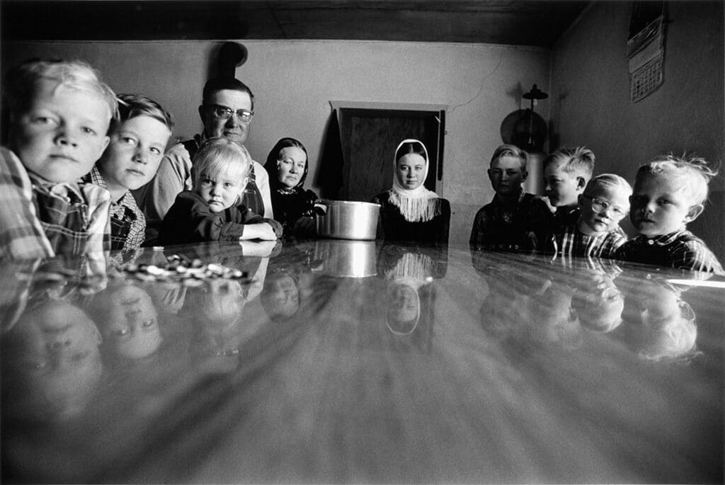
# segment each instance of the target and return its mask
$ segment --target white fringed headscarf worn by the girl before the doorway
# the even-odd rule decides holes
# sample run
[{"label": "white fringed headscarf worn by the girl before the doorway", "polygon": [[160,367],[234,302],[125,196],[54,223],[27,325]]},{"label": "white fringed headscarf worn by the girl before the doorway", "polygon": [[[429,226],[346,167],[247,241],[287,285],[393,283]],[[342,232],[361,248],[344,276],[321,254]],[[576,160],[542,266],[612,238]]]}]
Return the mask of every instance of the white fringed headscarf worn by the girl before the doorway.
[{"label": "white fringed headscarf worn by the girl before the doorway", "polygon": [[[405,144],[419,144],[423,148],[423,158],[426,160],[425,173],[423,174],[423,183],[418,188],[410,190],[405,188],[398,175],[398,152]],[[402,157],[405,154],[401,154]],[[426,177],[428,176],[428,150],[423,142],[415,138],[406,138],[401,141],[395,149],[393,157],[393,188],[390,190],[389,200],[400,210],[405,220],[411,223],[426,222],[439,214],[440,208],[437,200],[438,194],[429,191],[425,186]]]}]

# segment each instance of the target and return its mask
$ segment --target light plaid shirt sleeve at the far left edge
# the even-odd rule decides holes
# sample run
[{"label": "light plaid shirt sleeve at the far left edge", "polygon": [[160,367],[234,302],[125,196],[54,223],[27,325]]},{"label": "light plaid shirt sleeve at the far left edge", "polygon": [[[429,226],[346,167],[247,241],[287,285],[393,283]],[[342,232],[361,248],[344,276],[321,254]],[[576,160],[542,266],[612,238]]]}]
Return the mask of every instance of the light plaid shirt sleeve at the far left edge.
[{"label": "light plaid shirt sleeve at the far left edge", "polygon": [[33,185],[22,162],[0,147],[0,259],[54,255],[33,204]]}]

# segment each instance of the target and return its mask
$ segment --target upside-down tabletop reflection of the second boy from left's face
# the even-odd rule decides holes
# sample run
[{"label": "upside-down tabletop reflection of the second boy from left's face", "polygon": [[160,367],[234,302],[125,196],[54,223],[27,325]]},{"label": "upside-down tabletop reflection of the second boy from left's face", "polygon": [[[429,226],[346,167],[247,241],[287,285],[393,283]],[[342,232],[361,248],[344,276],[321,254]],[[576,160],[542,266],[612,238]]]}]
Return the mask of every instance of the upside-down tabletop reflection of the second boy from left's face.
[{"label": "upside-down tabletop reflection of the second boy from left's face", "polygon": [[133,285],[115,291],[109,298],[103,336],[123,357],[138,359],[156,352],[161,333],[149,294]]}]

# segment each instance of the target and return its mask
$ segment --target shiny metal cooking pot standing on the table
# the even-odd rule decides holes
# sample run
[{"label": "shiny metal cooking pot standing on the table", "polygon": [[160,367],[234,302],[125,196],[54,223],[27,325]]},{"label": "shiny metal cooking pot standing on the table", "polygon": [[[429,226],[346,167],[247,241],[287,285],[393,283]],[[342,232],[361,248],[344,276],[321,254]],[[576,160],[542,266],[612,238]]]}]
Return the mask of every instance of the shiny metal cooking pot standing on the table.
[{"label": "shiny metal cooking pot standing on the table", "polygon": [[[375,239],[380,204],[347,200],[320,200],[315,204],[318,236],[334,239]],[[322,212],[322,214],[320,214]]]}]

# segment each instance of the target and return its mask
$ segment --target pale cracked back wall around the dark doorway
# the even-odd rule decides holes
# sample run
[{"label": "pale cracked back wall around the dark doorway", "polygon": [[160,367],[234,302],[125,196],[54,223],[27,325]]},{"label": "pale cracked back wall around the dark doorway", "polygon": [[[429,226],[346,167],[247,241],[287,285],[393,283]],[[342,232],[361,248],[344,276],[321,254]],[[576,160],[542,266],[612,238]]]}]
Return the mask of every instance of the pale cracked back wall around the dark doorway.
[{"label": "pale cracked back wall around the dark doorway", "polygon": [[[486,168],[502,143],[504,117],[521,105],[521,90],[547,91],[548,49],[487,44],[381,41],[241,41],[247,62],[237,77],[256,98],[247,142],[265,162],[281,136],[299,138],[310,156],[317,189],[318,157],[329,101],[447,105],[442,196],[450,199],[452,244],[468,243],[473,214],[492,199]],[[86,59],[118,92],[151,96],[177,120],[175,136],[200,128],[196,107],[220,42],[7,42],[5,70],[28,57]],[[548,111],[547,101],[537,107]]]}]

